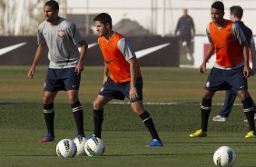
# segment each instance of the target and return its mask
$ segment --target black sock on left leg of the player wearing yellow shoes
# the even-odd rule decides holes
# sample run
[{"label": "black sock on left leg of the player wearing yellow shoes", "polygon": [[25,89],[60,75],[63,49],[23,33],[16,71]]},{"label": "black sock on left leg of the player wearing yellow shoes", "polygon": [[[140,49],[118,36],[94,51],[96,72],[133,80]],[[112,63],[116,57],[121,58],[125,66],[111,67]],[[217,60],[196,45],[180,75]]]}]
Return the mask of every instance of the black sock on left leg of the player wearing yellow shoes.
[{"label": "black sock on left leg of the player wearing yellow shoes", "polygon": [[208,119],[212,109],[212,99],[202,98],[201,105],[201,128],[203,132],[207,132]]}]

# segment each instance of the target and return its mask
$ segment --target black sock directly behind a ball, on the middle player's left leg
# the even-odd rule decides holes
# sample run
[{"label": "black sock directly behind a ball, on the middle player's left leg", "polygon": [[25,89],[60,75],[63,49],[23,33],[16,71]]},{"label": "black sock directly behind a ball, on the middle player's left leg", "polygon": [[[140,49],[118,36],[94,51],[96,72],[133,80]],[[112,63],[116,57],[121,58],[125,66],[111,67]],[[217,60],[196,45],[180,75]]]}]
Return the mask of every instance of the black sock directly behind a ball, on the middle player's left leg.
[{"label": "black sock directly behind a ball, on the middle player's left leg", "polygon": [[102,138],[103,109],[94,110],[94,134],[98,138]]}]

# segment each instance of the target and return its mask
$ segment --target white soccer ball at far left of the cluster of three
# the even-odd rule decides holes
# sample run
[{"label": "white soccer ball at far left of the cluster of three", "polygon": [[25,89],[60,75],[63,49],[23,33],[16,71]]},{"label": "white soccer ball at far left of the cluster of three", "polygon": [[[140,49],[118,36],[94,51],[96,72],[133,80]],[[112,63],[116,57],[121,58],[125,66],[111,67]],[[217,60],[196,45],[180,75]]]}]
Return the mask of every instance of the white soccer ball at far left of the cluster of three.
[{"label": "white soccer ball at far left of the cluster of three", "polygon": [[76,145],[71,139],[63,139],[56,146],[56,153],[59,157],[74,158]]}]

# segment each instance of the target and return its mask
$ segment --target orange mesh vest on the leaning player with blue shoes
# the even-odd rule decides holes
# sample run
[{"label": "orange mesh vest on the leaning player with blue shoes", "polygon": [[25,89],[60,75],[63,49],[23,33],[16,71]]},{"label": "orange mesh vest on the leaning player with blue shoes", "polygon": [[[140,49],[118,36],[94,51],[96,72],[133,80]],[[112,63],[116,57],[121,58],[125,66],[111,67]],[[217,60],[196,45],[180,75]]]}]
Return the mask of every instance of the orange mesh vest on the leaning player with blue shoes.
[{"label": "orange mesh vest on the leaning player with blue shoes", "polygon": [[[105,64],[108,67],[111,79],[115,83],[131,81],[130,64],[125,60],[123,54],[118,50],[118,41],[124,36],[114,33],[109,41],[104,36],[99,37],[98,43],[103,53]],[[137,67],[137,78],[141,76],[140,67]]]}]

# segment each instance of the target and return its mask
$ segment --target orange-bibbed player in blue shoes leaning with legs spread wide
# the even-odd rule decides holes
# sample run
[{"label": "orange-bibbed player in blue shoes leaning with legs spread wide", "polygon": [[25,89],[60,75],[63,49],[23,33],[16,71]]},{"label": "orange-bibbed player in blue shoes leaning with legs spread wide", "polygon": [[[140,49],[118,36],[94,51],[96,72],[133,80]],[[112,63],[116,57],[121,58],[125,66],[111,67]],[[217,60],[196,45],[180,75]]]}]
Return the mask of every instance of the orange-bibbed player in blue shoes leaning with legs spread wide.
[{"label": "orange-bibbed player in blue shoes leaning with legs spread wide", "polygon": [[131,45],[122,34],[113,32],[110,15],[96,15],[94,23],[99,34],[98,44],[103,53],[104,70],[103,87],[94,100],[93,136],[101,138],[104,105],[113,99],[123,100],[127,97],[133,112],[140,116],[152,135],[153,139],[147,146],[162,146],[153,119],[143,108],[143,77]]}]

